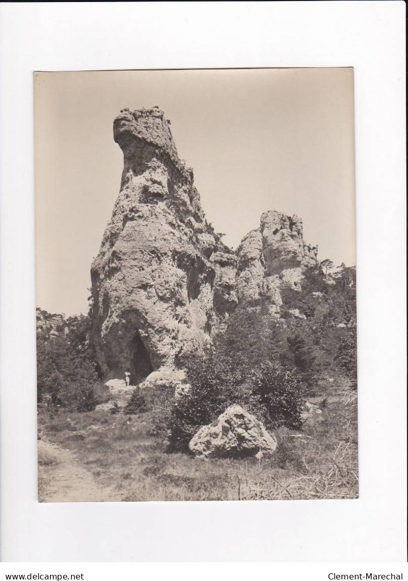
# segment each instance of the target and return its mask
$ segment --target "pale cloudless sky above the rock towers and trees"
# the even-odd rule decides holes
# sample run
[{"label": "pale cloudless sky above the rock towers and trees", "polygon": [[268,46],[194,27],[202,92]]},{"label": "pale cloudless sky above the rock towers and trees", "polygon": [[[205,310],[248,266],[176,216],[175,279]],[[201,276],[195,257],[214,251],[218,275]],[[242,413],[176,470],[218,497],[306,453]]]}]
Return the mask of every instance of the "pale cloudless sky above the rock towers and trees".
[{"label": "pale cloudless sky above the rock towers and trees", "polygon": [[353,70],[35,74],[37,305],[87,312],[119,193],[120,109],[158,105],[207,220],[236,248],[263,211],[303,218],[320,260],[355,264]]}]

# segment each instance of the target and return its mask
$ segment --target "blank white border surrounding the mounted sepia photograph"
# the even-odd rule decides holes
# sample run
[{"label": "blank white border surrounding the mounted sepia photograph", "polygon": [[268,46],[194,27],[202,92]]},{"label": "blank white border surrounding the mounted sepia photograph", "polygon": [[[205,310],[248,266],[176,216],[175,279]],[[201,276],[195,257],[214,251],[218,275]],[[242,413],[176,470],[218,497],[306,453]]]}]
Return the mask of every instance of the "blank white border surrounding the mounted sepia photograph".
[{"label": "blank white border surrounding the mounted sepia photograph", "polygon": [[[405,2],[0,10],[2,560],[405,560]],[[33,72],[333,66],[355,70],[359,499],[38,503]]]}]

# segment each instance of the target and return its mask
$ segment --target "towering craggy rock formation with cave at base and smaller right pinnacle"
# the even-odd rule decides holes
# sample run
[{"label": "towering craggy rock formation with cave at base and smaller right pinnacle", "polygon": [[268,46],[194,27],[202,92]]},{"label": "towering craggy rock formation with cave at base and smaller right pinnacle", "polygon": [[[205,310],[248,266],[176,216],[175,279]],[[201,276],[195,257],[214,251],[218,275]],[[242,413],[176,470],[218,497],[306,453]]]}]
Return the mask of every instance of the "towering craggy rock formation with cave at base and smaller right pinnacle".
[{"label": "towering craggy rock formation with cave at base and smaller right pinnacle", "polygon": [[239,301],[265,296],[278,316],[280,289],[300,289],[317,249],[303,242],[298,217],[276,211],[237,252],[224,245],[158,107],[122,110],[113,133],[124,168],[91,268],[91,340],[106,379],[130,371],[137,383],[210,345]]}]

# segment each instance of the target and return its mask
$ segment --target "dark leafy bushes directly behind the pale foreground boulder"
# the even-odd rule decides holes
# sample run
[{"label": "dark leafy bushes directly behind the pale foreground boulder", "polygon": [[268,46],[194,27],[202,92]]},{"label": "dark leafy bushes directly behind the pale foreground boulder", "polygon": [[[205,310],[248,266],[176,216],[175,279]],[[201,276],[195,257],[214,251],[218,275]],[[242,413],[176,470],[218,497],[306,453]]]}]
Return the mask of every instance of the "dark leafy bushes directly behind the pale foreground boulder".
[{"label": "dark leafy bushes directly behind the pale foreground boulder", "polygon": [[198,429],[235,403],[268,428],[302,424],[303,386],[287,367],[266,361],[250,370],[234,354],[227,357],[214,349],[189,362],[187,377],[191,389],[173,401],[167,417],[171,450],[188,451]]}]

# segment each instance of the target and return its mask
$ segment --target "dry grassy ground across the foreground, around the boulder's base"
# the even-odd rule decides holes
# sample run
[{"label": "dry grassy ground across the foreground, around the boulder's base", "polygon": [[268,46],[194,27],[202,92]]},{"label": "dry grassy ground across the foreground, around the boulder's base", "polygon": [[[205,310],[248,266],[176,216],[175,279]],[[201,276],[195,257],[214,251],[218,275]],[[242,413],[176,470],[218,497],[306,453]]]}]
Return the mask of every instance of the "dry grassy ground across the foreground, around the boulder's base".
[{"label": "dry grassy ground across the foreground, around the boulder's base", "polygon": [[[336,391],[339,393],[338,388]],[[321,397],[310,401],[320,403]],[[128,416],[109,411],[59,411],[51,418],[42,411],[39,436],[51,447],[71,452],[74,461],[92,475],[98,490],[106,491],[102,500],[358,496],[356,406],[339,394],[329,395],[323,413],[308,418],[301,432],[276,431],[278,449],[272,458],[263,460],[203,461],[167,453],[163,438],[151,435],[150,420],[148,412]],[[42,500],[47,500],[48,482],[57,469],[58,462],[54,462],[49,447],[40,449]]]}]

